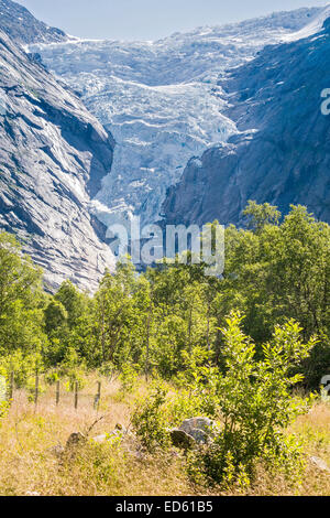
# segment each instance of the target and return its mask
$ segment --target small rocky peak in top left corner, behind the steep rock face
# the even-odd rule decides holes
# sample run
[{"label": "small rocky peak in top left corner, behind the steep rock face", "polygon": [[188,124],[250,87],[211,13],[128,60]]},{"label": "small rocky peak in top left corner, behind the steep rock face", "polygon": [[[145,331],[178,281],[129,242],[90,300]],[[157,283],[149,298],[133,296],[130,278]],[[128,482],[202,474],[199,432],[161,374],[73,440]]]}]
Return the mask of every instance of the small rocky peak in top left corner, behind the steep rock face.
[{"label": "small rocky peak in top left corner, behind the steep rock face", "polygon": [[0,0],[0,30],[21,44],[68,40],[63,31],[36,20],[28,9],[11,0]]}]

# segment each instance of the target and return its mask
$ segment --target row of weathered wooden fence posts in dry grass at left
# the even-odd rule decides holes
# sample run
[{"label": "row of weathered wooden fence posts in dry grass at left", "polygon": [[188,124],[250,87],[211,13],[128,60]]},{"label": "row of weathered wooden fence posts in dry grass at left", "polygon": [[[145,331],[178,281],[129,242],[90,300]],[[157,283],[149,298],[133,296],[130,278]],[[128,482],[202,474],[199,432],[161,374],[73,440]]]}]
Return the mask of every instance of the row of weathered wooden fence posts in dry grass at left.
[{"label": "row of weathered wooden fence posts in dry grass at left", "polygon": [[[47,374],[47,373],[44,373]],[[38,404],[40,400],[43,396],[46,396],[48,399],[53,399],[56,407],[58,407],[62,402],[66,401],[69,404],[73,404],[74,408],[77,410],[79,403],[82,399],[86,400],[88,398],[92,404],[95,410],[99,409],[100,401],[101,401],[101,381],[96,382],[96,391],[94,393],[86,393],[82,390],[79,390],[79,382],[74,381],[73,390],[65,389],[64,381],[57,380],[54,384],[46,384],[48,385],[48,390],[43,391],[41,390],[41,377],[42,374],[35,371],[34,378],[34,387],[33,389],[30,388],[30,397],[29,401],[34,403],[35,406]],[[3,378],[4,379],[4,378]],[[12,402],[15,400],[15,395],[20,390],[15,385],[15,373],[10,373],[9,380],[7,382],[7,400]],[[20,390],[21,391],[21,390]]]}]

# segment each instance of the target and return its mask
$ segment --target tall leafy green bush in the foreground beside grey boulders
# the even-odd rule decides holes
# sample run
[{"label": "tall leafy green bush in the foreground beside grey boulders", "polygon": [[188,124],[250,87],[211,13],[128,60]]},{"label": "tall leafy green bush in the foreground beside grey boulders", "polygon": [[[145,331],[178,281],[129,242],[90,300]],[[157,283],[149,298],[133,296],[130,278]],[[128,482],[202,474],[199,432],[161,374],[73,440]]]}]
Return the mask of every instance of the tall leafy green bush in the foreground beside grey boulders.
[{"label": "tall leafy green bush in the foreground beside grey boulders", "polygon": [[284,468],[299,464],[299,444],[284,429],[308,409],[308,401],[292,396],[301,376],[292,376],[290,370],[316,341],[302,344],[299,325],[289,321],[275,328],[273,339],[263,345],[263,359],[257,360],[241,322],[240,314],[232,313],[222,330],[226,374],[218,384],[222,429],[190,458],[190,474],[211,483],[226,483],[229,472],[232,481],[242,473],[252,479],[260,462]]}]

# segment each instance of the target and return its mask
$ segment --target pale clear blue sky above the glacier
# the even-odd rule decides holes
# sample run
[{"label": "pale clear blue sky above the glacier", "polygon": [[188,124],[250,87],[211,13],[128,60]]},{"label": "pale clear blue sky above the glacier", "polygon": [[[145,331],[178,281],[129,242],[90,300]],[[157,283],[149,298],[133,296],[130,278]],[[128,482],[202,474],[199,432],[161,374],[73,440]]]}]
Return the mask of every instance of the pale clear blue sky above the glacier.
[{"label": "pale clear blue sky above the glacier", "polygon": [[18,0],[36,18],[87,39],[157,40],[329,0]]}]

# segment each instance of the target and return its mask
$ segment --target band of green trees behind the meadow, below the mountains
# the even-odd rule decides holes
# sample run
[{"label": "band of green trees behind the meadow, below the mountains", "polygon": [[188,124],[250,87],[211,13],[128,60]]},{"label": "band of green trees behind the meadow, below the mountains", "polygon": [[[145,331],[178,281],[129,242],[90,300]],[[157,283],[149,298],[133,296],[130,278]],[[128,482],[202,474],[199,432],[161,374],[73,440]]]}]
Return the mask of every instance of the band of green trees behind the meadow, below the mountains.
[{"label": "band of green trees behind the meadow, below the mountains", "polygon": [[[118,371],[124,385],[128,379],[124,390],[132,386],[133,370],[146,379],[157,374],[188,384],[195,403],[200,399],[200,411],[212,413],[213,389],[193,387],[193,378],[224,371],[219,330],[235,310],[245,315],[242,328],[254,341],[257,358],[264,357],[263,344],[274,326],[289,319],[299,322],[305,342],[317,334],[310,358],[295,371],[305,374],[305,387],[318,389],[330,369],[330,227],[301,206],[292,206],[282,218],[276,207],[250,202],[244,217],[248,229],[226,230],[221,279],[206,276],[204,265],[189,260],[164,259],[138,274],[123,258],[113,274],[106,272],[94,295],[70,281],[54,295],[44,293],[41,270],[22,255],[13,236],[0,234],[1,357],[13,358],[18,352],[19,363],[25,363],[30,355],[42,355],[46,369],[69,369],[72,380],[75,369],[107,370],[112,377]],[[198,356],[199,371],[193,365]],[[128,374],[130,366],[136,367]]]}]

